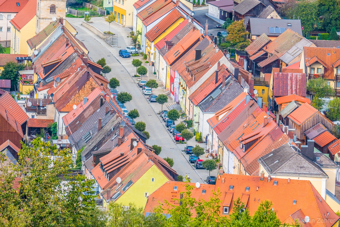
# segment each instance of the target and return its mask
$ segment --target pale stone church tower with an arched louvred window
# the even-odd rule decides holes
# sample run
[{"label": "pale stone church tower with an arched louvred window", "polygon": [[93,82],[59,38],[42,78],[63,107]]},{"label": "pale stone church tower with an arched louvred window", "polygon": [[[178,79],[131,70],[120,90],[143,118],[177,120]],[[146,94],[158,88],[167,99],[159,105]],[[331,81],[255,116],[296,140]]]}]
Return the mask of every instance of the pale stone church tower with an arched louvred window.
[{"label": "pale stone church tower with an arched louvred window", "polygon": [[52,17],[58,19],[65,16],[66,0],[37,0],[36,34],[52,22]]}]

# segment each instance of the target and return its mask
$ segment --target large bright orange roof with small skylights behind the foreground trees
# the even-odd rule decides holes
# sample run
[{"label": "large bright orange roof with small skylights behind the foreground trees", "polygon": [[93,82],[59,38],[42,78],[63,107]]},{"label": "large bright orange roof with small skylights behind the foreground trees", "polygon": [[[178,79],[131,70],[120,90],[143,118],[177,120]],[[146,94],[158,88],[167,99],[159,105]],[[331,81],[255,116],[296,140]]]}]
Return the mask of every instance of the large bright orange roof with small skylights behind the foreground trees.
[{"label": "large bright orange roof with small skylights behind the foreground trees", "polygon": [[[277,181],[277,185],[274,185],[274,181]],[[303,212],[304,216],[293,216],[290,219],[291,221],[294,222],[296,219],[301,220],[305,216],[309,216],[310,220],[323,220],[323,222],[309,222],[309,226],[331,227],[339,220],[339,216],[335,214],[307,180],[290,179],[288,182],[287,179],[272,178],[268,182],[267,177],[261,181],[259,176],[223,174],[217,178],[215,187],[210,184],[201,184],[200,188],[197,189],[194,183],[189,184],[193,186],[191,197],[197,201],[199,199],[208,201],[212,197],[211,191],[216,192],[219,190],[221,192],[221,215],[223,215],[223,205],[228,206],[232,211],[232,201],[240,197],[245,207],[249,210],[250,215],[254,215],[261,201],[271,201],[272,208],[282,224],[288,217],[293,216],[299,210]],[[145,212],[152,213],[154,208],[159,206],[159,203],[164,207],[165,200],[172,205],[179,206],[180,195],[182,192],[185,192],[185,185],[186,182],[174,181],[168,181],[162,185],[149,195]],[[230,190],[231,185],[233,186],[232,190]],[[174,191],[174,186],[177,186],[177,191]],[[249,187],[249,190],[246,191],[246,187]],[[202,190],[206,190],[205,194],[202,193]],[[293,200],[296,200],[294,205]],[[192,209],[191,213],[193,213],[193,216],[195,215],[194,212],[194,209]]]}]

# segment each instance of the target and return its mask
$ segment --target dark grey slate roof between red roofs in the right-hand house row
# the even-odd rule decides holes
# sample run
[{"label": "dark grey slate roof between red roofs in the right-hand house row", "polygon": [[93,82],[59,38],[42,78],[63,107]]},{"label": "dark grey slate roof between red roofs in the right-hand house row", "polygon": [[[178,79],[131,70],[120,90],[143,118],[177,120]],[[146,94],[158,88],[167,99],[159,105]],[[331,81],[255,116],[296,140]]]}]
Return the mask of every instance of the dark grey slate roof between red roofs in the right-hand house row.
[{"label": "dark grey slate roof between red roofs in the right-hand house row", "polygon": [[[221,88],[222,85],[215,88],[214,91],[217,89],[221,90]],[[214,93],[214,91],[212,93]],[[242,92],[243,88],[240,84],[232,76],[229,76],[226,79],[224,90],[216,98],[212,98],[210,95],[207,96],[200,104],[198,104],[198,107],[202,112],[216,113],[233,101]]]}]

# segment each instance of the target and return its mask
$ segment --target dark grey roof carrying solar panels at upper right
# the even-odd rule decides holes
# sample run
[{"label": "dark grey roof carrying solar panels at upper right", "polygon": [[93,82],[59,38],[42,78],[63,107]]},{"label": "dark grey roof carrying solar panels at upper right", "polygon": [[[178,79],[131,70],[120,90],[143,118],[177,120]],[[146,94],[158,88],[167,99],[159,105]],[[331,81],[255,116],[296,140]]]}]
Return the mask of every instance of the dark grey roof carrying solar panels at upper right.
[{"label": "dark grey roof carrying solar panels at upper right", "polygon": [[[292,26],[288,26],[288,23],[291,23]],[[301,20],[249,18],[247,30],[249,30],[249,27],[250,33],[257,36],[262,35],[263,33],[267,36],[280,35],[279,33],[269,33],[269,27],[286,28],[286,30],[290,29],[297,34],[302,35]]]}]

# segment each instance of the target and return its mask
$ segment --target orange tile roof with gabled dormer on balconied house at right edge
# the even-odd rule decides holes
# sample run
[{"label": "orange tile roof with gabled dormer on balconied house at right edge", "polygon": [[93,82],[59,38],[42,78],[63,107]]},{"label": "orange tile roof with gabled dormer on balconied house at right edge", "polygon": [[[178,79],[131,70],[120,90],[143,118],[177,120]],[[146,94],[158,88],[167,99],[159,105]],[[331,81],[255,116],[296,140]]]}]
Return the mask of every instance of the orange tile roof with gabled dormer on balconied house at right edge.
[{"label": "orange tile roof with gabled dormer on balconied house at right edge", "polygon": [[319,61],[325,67],[325,79],[334,80],[334,67],[332,65],[340,59],[340,49],[304,47],[304,56],[306,66]]}]

